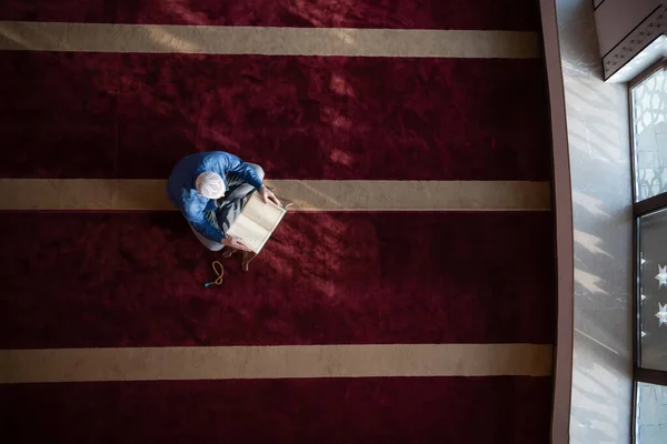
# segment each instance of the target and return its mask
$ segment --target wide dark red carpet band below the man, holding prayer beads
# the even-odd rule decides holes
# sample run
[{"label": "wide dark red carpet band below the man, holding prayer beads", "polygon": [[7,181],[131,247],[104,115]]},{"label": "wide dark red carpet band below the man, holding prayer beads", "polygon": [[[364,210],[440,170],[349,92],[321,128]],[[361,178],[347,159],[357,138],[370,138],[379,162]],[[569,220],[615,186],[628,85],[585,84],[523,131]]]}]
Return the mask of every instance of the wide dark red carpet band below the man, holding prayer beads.
[{"label": "wide dark red carpet band below the man, holding prayer beads", "polygon": [[554,340],[549,213],[293,213],[221,289],[176,212],[0,231],[6,349]]}]

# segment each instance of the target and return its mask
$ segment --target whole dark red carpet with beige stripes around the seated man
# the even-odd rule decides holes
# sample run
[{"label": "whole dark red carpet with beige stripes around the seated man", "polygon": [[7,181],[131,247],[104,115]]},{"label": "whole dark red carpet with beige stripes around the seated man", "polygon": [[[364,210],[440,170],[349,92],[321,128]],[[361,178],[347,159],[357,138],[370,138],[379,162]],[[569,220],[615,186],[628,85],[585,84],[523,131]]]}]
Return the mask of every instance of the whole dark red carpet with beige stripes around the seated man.
[{"label": "whole dark red carpet with beige stripes around the seated man", "polygon": [[[547,443],[536,0],[6,0],[0,424],[34,443]],[[165,196],[295,201],[245,274]]]}]

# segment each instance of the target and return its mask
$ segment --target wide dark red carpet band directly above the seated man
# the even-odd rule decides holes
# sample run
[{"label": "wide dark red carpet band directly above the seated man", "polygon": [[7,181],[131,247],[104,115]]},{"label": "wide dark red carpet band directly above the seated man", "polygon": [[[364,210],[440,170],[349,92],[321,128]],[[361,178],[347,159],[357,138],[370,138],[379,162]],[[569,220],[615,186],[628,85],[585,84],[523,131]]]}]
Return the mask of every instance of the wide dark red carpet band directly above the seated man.
[{"label": "wide dark red carpet band directly above the seated man", "polygon": [[273,179],[548,180],[541,63],[0,52],[0,176],[166,178],[222,149]]}]

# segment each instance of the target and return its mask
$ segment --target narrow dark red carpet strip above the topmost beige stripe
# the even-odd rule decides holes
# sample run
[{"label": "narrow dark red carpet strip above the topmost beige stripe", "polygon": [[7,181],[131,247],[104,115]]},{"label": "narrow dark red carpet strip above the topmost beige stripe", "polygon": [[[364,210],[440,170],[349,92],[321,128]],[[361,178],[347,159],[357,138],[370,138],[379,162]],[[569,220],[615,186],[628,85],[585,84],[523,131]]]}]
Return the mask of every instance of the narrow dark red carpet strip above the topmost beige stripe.
[{"label": "narrow dark red carpet strip above the topmost beige stripe", "polygon": [[538,30],[534,0],[4,0],[1,20]]}]

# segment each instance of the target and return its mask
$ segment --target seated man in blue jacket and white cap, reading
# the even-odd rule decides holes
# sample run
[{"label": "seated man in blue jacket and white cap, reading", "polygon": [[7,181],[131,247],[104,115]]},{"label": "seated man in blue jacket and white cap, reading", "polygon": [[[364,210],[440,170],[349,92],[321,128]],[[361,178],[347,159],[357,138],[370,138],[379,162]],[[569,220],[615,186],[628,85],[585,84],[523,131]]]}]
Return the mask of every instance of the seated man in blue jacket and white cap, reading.
[{"label": "seated man in blue jacket and white cap, reading", "polygon": [[253,190],[259,191],[265,203],[271,200],[280,205],[262,180],[259,165],[222,151],[202,152],[176,164],[167,182],[167,194],[207,249],[220,251],[231,246],[249,251],[240,240],[225,233]]}]

